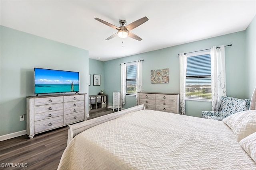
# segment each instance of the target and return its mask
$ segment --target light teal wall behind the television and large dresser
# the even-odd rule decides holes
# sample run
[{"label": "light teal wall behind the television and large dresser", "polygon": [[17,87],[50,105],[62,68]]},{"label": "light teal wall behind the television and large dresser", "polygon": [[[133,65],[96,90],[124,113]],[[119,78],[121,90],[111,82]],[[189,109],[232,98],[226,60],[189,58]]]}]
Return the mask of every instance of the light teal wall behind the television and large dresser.
[{"label": "light teal wall behind the television and large dresser", "polygon": [[88,93],[87,50],[4,26],[0,36],[1,136],[26,130],[20,115],[26,114],[26,96],[34,96],[34,67],[77,71],[80,92]]}]

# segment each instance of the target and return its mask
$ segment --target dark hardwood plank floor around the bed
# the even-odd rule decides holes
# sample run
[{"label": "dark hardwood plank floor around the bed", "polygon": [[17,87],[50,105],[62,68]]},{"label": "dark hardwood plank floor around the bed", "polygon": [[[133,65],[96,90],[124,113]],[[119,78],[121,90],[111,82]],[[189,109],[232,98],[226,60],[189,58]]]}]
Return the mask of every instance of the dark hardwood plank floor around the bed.
[{"label": "dark hardwood plank floor around the bed", "polygon": [[[116,111],[116,110],[115,110]],[[93,119],[115,112],[112,109],[94,109],[89,112]],[[1,170],[56,170],[67,146],[68,129],[62,127],[35,135],[8,139],[0,142]],[[9,166],[9,167],[7,167]]]}]

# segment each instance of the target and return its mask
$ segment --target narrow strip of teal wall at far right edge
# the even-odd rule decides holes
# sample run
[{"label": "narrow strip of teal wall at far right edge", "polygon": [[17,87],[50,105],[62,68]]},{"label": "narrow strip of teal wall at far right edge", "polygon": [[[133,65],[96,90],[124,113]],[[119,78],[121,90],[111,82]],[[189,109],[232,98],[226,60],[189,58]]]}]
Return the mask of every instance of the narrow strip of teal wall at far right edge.
[{"label": "narrow strip of teal wall at far right edge", "polygon": [[246,29],[246,88],[247,98],[252,97],[256,87],[256,16]]}]

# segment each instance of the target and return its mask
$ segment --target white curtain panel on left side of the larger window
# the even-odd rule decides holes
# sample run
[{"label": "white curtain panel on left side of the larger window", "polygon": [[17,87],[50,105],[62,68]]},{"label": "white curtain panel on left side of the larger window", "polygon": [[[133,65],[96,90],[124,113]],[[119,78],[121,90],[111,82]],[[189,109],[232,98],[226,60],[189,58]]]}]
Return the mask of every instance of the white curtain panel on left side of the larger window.
[{"label": "white curtain panel on left side of the larger window", "polygon": [[188,55],[180,53],[180,114],[185,114],[186,72]]}]

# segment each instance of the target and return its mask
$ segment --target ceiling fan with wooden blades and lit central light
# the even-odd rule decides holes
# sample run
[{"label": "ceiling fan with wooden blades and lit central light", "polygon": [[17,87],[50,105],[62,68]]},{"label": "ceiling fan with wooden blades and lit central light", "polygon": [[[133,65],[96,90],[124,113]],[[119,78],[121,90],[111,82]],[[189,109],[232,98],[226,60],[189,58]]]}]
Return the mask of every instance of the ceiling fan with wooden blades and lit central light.
[{"label": "ceiling fan with wooden blades and lit central light", "polygon": [[133,39],[136,39],[138,41],[141,41],[142,38],[140,38],[138,35],[135,35],[134,33],[130,32],[132,29],[140,26],[142,23],[148,21],[148,18],[147,17],[143,17],[143,18],[140,18],[139,20],[136,20],[128,25],[126,25],[126,20],[120,20],[119,21],[119,24],[121,25],[120,27],[117,27],[111,23],[108,23],[106,21],[103,21],[103,20],[100,20],[99,18],[94,18],[95,20],[97,21],[100,21],[101,23],[104,23],[114,29],[117,29],[118,32],[111,35],[110,37],[108,37],[106,40],[109,40],[109,39],[112,39],[114,37],[116,37],[118,35],[118,37],[120,38],[126,38],[127,36],[128,37],[131,37]]}]

